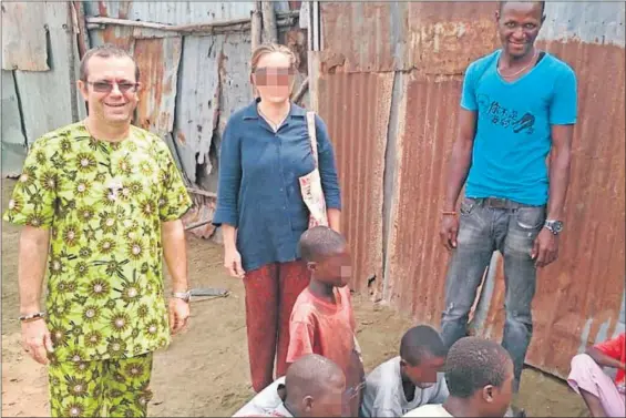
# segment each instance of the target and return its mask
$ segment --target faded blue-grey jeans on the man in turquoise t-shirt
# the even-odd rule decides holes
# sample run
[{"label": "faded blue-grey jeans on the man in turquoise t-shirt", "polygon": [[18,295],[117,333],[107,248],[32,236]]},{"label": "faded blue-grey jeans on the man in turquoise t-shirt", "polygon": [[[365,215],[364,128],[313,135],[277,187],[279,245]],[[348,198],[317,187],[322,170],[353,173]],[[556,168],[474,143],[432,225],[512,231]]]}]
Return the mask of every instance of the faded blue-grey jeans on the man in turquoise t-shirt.
[{"label": "faded blue-grey jeans on the man in turquoise t-shirt", "polygon": [[493,252],[500,251],[504,257],[506,319],[502,346],[513,359],[515,391],[533,334],[531,303],[536,267],[531,252],[545,216],[545,206],[465,197],[461,204],[456,248],[448,265],[441,336],[450,347],[466,336],[470,309]]}]

